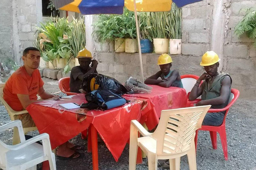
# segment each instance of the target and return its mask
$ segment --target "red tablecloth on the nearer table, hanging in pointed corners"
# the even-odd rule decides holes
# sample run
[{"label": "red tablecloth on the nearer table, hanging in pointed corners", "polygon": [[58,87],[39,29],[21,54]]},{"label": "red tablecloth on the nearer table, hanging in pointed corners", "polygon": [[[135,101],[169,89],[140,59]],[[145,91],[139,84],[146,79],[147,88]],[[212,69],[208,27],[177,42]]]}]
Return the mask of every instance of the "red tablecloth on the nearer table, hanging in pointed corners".
[{"label": "red tablecloth on the nearer table, hanging in pointed corners", "polygon": [[34,120],[38,131],[49,134],[52,149],[93,124],[117,161],[129,140],[131,120],[145,122],[149,129],[154,128],[159,122],[154,104],[150,100],[134,97],[126,97],[126,99],[131,102],[107,111],[88,111],[84,108],[66,110],[59,106],[62,103],[86,102],[84,94],[78,94],[72,99],[35,102],[26,110]]}]

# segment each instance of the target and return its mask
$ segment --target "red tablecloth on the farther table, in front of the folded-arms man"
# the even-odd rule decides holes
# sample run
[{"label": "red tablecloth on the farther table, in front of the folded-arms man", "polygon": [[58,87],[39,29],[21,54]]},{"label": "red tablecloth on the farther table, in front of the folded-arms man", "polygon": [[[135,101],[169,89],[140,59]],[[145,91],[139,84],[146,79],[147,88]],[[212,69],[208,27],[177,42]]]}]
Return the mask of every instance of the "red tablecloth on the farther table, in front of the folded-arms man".
[{"label": "red tablecloth on the farther table, in front of the folded-arms man", "polygon": [[155,105],[159,118],[162,110],[184,108],[187,106],[188,98],[185,89],[178,87],[164,88],[158,85],[149,86],[153,87],[151,94],[125,94],[123,97],[150,99]]}]

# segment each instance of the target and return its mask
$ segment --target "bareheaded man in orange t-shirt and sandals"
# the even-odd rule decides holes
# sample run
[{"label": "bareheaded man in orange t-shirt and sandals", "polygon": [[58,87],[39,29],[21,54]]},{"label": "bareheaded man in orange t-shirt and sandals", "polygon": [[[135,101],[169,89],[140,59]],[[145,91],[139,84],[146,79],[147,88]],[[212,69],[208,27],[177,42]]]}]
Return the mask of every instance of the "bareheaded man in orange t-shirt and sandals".
[{"label": "bareheaded man in orange t-shirt and sandals", "polygon": [[[40,62],[40,51],[35,47],[28,47],[23,51],[22,60],[24,65],[15,71],[5,83],[3,98],[15,111],[25,110],[28,105],[41,99],[55,98],[43,88],[44,82],[37,69]],[[59,98],[59,97],[58,97]],[[16,115],[15,119],[21,120],[23,128],[35,126],[28,113]],[[69,141],[59,146],[57,155],[59,159],[75,159],[83,155],[76,152],[81,146],[75,146]]]}]

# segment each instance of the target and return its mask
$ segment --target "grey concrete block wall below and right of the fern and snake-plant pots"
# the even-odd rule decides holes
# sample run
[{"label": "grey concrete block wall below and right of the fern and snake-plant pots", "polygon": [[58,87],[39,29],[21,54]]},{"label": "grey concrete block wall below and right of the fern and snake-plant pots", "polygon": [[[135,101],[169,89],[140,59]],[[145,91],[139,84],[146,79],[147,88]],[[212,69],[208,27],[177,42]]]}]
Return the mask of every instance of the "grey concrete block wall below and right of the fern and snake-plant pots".
[{"label": "grey concrete block wall below and right of the fern and snake-plant pots", "polygon": [[[219,4],[221,3],[221,4]],[[217,5],[219,5],[217,7]],[[253,40],[245,35],[234,35],[236,24],[243,18],[242,8],[255,7],[251,0],[204,0],[182,8],[182,54],[172,55],[172,69],[180,74],[201,75],[201,56],[215,48],[221,58],[219,70],[228,72],[233,79],[233,88],[241,92],[242,98],[254,99],[256,95],[256,49]],[[216,9],[216,8],[221,9]],[[221,15],[214,16],[214,15]],[[224,16],[224,17],[223,17]],[[217,20],[220,25],[214,26]],[[220,29],[218,29],[220,27]],[[220,32],[220,34],[216,34]],[[218,35],[218,36],[216,36]],[[95,39],[95,38],[94,38]],[[130,76],[140,78],[139,54],[115,53],[113,43],[102,45],[94,40],[95,59],[98,59],[98,72],[125,82]],[[220,44],[221,48],[218,50]],[[217,49],[216,49],[217,48]],[[157,63],[159,54],[142,54],[144,78],[160,70]]]}]

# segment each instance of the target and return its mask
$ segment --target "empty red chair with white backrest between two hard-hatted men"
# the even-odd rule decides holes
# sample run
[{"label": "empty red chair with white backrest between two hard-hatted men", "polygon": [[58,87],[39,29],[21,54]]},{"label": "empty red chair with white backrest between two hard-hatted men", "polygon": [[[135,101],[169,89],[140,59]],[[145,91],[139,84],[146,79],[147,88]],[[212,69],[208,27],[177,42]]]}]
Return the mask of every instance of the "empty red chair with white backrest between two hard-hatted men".
[{"label": "empty red chair with white backrest between two hard-hatted men", "polygon": [[[192,74],[186,74],[186,75],[181,75],[180,78],[181,78],[181,82],[183,84],[183,87],[184,87],[184,89],[187,92],[187,96],[189,97],[190,91],[192,90],[192,88],[196,84],[196,81],[198,80],[199,76],[192,75]],[[201,84],[202,83],[203,82],[201,82]],[[195,99],[193,101],[188,99],[187,107],[190,107],[191,104],[195,104],[195,103],[197,103],[199,101],[200,101],[200,99]]]}]

